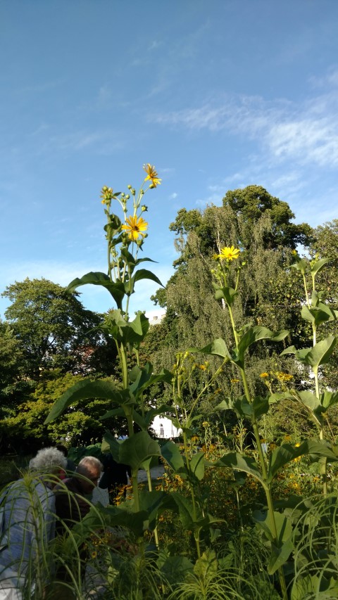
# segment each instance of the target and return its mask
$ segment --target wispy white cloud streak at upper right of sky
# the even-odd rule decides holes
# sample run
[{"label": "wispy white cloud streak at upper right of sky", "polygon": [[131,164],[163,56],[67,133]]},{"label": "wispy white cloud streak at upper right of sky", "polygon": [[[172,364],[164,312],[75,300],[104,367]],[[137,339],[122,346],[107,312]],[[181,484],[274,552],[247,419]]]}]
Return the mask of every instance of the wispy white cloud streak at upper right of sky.
[{"label": "wispy white cloud streak at upper right of sky", "polygon": [[[338,72],[332,72],[333,82]],[[287,100],[265,101],[256,96],[225,96],[215,105],[151,116],[153,122],[245,135],[258,141],[270,160],[292,159],[300,165],[338,165],[338,95],[318,95],[303,104]]]}]

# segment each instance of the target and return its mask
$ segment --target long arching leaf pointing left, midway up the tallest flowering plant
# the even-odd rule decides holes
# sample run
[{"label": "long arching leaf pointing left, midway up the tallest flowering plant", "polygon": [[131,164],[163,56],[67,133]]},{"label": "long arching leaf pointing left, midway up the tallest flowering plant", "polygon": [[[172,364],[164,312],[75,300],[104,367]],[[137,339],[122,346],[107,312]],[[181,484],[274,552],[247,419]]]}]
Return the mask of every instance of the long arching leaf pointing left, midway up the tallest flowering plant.
[{"label": "long arching leaf pointing left, midway up the tallest flowering plant", "polygon": [[113,400],[117,404],[123,404],[129,397],[129,390],[117,388],[113,381],[82,379],[82,381],[78,381],[75,385],[72,385],[61,398],[56,400],[44,422],[50,423],[54,421],[65,409],[79,400],[101,398],[103,400]]}]

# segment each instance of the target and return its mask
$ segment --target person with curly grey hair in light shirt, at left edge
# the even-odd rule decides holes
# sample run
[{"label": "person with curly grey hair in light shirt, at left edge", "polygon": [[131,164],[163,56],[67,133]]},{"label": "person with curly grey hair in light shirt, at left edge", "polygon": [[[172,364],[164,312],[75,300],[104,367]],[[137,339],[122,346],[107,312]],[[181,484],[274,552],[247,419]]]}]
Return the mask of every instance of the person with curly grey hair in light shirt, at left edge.
[{"label": "person with curly grey hair in light shirt, at left edge", "polygon": [[[43,448],[23,478],[1,492],[0,599],[20,599],[20,589],[42,573],[41,561],[55,533],[54,485],[67,461],[56,448]],[[28,582],[28,583],[27,583]]]}]

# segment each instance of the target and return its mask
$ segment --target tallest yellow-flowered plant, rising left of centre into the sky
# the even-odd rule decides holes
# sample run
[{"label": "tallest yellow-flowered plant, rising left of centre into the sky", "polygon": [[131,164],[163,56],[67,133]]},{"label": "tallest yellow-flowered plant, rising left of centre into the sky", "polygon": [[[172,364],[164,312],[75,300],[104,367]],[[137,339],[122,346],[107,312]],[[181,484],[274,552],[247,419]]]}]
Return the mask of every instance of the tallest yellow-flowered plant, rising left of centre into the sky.
[{"label": "tallest yellow-flowered plant, rising left of centre into the sky", "polygon": [[[118,507],[111,507],[111,518],[115,511],[114,523],[130,526],[136,535],[142,535],[143,530],[153,527],[155,522],[154,518],[152,520],[149,518],[148,508],[158,503],[158,498],[154,499],[156,492],[148,492],[150,496],[147,496],[146,492],[143,492],[143,496],[140,494],[137,486],[137,471],[140,467],[146,468],[149,485],[151,485],[149,465],[153,457],[160,456],[161,450],[158,442],[149,436],[148,428],[154,416],[163,413],[166,408],[149,409],[144,403],[144,391],[159,381],[171,381],[169,371],[162,370],[161,373],[154,374],[149,362],[140,364],[139,347],[149,330],[149,320],[141,311],[138,311],[132,320],[129,314],[130,297],[138,281],[150,279],[161,285],[161,281],[154,273],[140,268],[140,265],[146,261],[154,262],[150,258],[139,257],[148,229],[148,222],[144,219],[147,210],[144,195],[149,189],[156,189],[161,184],[154,166],[144,165],[144,170],[146,177],[138,192],[131,185],[127,187],[127,193],[114,192],[108,186],[102,188],[101,202],[106,216],[104,231],[107,245],[107,272],[89,272],[80,279],[74,279],[68,286],[70,293],[87,284],[102,286],[115,302],[116,307],[105,315],[101,329],[115,341],[122,381],[117,383],[113,378],[96,381],[84,378],[59,398],[46,419],[46,423],[49,423],[75,402],[90,400],[93,397],[111,400],[111,410],[102,418],[114,415],[125,417],[128,438],[120,443],[115,440],[112,433],[107,432],[104,443],[106,449],[110,449],[115,461],[129,464],[131,467],[133,500],[128,503],[128,506],[134,513],[139,514],[139,518],[134,519],[131,519],[127,513],[122,517]],[[122,215],[115,214],[116,209],[119,209]],[[140,429],[138,433],[134,433],[134,423],[137,423]]]}]

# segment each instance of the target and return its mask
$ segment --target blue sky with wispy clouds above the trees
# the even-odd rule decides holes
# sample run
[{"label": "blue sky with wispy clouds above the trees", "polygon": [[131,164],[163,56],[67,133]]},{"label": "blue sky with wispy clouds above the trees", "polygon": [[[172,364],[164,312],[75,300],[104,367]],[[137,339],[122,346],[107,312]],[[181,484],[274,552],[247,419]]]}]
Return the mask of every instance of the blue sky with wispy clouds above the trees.
[{"label": "blue sky with wispy clouds above the trees", "polygon": [[[337,29],[336,0],[3,0],[0,291],[106,271],[101,186],[138,187],[145,162],[163,179],[144,244],[163,283],[177,210],[228,189],[338,218]],[[157,287],[139,282],[132,309]]]}]

